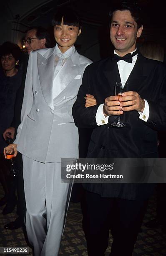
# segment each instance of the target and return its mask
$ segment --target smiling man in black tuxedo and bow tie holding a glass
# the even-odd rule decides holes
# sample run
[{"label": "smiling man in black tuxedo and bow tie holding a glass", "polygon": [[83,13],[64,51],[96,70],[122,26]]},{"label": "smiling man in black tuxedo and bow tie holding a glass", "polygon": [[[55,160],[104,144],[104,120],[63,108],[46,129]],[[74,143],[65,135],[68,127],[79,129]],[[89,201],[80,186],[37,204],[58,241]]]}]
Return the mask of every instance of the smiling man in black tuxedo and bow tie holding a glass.
[{"label": "smiling man in black tuxedo and bow tie holding a glass", "polygon": [[[110,16],[115,51],[111,57],[86,68],[73,106],[75,124],[94,128],[88,158],[155,158],[156,130],[166,127],[166,70],[162,63],[136,51],[136,38],[141,36],[143,26],[141,10],[135,3],[115,6]],[[128,91],[118,100],[114,88],[121,81],[128,82]],[[94,95],[97,105],[84,107],[87,93]],[[111,125],[118,115],[126,124],[123,128]],[[87,209],[83,228],[88,255],[104,255],[111,227],[110,255],[131,256],[153,184],[84,187]]]}]

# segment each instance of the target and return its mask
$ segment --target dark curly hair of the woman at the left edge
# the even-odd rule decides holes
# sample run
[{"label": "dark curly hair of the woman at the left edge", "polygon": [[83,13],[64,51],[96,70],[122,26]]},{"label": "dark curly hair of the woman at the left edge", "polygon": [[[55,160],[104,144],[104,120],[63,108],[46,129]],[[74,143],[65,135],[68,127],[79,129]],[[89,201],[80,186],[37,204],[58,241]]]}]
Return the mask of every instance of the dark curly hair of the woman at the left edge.
[{"label": "dark curly hair of the woman at the left edge", "polygon": [[0,47],[0,57],[6,56],[8,54],[12,54],[15,58],[15,61],[19,60],[21,56],[20,47],[17,44],[13,44],[11,42],[3,43]]}]

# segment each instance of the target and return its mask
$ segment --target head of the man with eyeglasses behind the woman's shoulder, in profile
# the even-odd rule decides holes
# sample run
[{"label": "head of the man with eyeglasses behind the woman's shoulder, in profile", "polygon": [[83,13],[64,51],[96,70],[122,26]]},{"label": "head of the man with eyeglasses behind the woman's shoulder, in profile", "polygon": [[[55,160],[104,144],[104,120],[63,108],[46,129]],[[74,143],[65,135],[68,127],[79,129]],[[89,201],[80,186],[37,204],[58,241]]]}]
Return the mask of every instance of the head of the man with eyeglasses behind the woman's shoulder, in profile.
[{"label": "head of the man with eyeglasses behind the woman's shoulder, in profile", "polygon": [[49,48],[50,37],[45,28],[32,28],[27,31],[23,43],[27,49],[28,54],[30,54],[30,52],[34,50]]}]

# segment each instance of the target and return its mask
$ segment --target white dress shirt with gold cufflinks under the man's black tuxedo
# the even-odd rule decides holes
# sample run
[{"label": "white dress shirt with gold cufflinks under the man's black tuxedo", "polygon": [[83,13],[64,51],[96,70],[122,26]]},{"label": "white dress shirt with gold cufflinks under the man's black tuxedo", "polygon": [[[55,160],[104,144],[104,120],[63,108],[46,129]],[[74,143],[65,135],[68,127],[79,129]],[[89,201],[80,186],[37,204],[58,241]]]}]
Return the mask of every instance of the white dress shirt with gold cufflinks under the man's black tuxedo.
[{"label": "white dress shirt with gold cufflinks under the man's black tuxedo", "polygon": [[[136,51],[136,49],[134,51]],[[131,54],[134,51],[132,51]],[[116,51],[114,51],[114,54],[117,54]],[[123,61],[123,60],[120,60],[120,61],[117,62],[119,74],[120,74],[120,77],[121,77],[121,82],[126,83],[131,71],[133,70],[134,65],[136,64],[137,56],[138,56],[138,54],[133,56],[132,63],[128,63],[128,62]],[[145,101],[145,108],[144,108],[143,112],[138,112],[138,113],[140,115],[139,118],[146,122],[148,120],[148,117],[149,117],[149,105],[148,105],[147,100],[145,100],[145,99],[143,99],[143,100]],[[98,125],[104,125],[104,124],[108,123],[109,116],[107,116],[107,117],[104,116],[104,114],[103,114],[103,105],[104,104],[101,104],[98,107],[98,110],[97,110],[97,113],[96,113],[96,123]]]}]

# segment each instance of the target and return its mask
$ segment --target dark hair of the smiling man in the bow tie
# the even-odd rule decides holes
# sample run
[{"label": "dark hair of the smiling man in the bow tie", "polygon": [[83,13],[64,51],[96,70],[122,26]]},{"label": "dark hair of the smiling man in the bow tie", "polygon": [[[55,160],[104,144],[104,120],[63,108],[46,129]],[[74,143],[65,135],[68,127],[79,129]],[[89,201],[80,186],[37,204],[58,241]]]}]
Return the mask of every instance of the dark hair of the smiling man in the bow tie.
[{"label": "dark hair of the smiling man in the bow tie", "polygon": [[129,10],[131,12],[131,16],[137,23],[137,28],[140,28],[142,26],[142,13],[141,8],[137,5],[134,1],[122,1],[120,3],[117,3],[114,5],[109,13],[112,21],[113,13],[116,10]]}]

